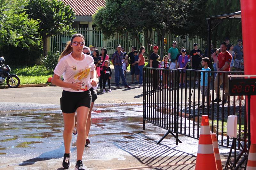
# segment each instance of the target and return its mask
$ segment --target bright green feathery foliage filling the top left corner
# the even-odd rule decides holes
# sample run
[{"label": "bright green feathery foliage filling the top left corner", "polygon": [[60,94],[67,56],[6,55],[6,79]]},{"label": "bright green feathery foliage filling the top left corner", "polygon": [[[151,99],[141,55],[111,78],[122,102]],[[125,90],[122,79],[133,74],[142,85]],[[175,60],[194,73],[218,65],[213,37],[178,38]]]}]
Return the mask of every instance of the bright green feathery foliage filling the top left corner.
[{"label": "bright green feathery foliage filling the top left corner", "polygon": [[22,8],[25,0],[0,0],[0,49],[5,46],[29,48],[40,45],[39,25]]}]

